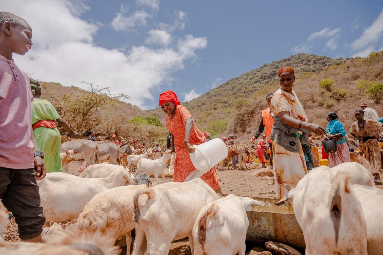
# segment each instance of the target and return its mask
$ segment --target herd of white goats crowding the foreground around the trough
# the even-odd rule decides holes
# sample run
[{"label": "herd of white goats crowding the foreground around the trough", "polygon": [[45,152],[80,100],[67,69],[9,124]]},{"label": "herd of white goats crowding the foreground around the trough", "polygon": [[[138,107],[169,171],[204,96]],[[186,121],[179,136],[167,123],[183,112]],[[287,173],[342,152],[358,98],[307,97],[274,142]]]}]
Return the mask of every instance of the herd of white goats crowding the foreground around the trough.
[{"label": "herd of white goats crowding the foreground around the trough", "polygon": [[[156,161],[158,169],[165,167],[169,155],[167,151]],[[129,255],[135,229],[134,255],[168,254],[173,240],[186,237],[192,254],[245,254],[246,211],[265,206],[264,202],[234,195],[223,198],[199,178],[152,186],[147,174],[157,172],[146,170],[146,161],[154,160],[142,157],[135,175],[105,163],[88,166],[79,177],[47,173],[38,181],[46,220],[77,222],[52,242],[2,240],[0,253],[118,254],[115,242],[125,236]],[[383,254],[383,190],[375,187],[365,167],[356,162],[321,166],[295,188],[285,188],[287,195],[276,204],[293,205],[306,254]],[[3,231],[8,218],[3,206],[0,210]]]}]

